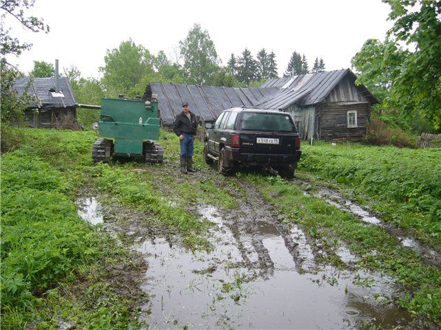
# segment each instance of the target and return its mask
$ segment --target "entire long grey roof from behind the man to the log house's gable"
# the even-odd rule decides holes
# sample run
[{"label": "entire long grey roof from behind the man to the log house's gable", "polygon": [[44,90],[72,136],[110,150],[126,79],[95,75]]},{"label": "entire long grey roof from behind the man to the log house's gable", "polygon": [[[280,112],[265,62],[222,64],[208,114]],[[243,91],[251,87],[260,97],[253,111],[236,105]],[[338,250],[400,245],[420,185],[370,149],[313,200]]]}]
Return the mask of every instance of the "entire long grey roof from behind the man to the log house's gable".
[{"label": "entire long grey roof from behind the man to the log house's gable", "polygon": [[[212,87],[199,85],[175,85],[150,83],[145,98],[158,94],[163,124],[170,125],[181,112],[181,102],[188,102],[190,109],[205,121],[216,120],[219,113],[230,107],[262,107],[286,109],[291,104],[300,107],[320,103],[345,77],[355,82],[356,75],[350,69],[302,74],[276,78],[258,88]],[[365,86],[356,86],[357,93],[371,104],[378,103]]]}]

